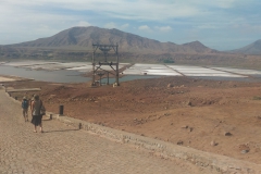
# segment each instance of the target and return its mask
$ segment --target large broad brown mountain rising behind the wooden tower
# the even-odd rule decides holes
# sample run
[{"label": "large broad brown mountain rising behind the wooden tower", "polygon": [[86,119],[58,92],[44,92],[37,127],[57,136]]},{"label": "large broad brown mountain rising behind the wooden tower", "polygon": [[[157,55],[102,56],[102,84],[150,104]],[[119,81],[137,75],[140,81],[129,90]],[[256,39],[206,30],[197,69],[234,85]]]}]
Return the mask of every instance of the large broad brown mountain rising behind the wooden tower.
[{"label": "large broad brown mountain rising behind the wooden tower", "polygon": [[92,44],[119,44],[121,52],[142,52],[142,53],[211,53],[217,52],[203,46],[199,41],[184,45],[173,42],[160,42],[158,40],[144,38],[138,35],[124,33],[119,29],[104,29],[95,26],[73,27],[63,30],[54,36],[40,38],[34,41],[9,45],[15,48],[55,48],[90,50]]}]

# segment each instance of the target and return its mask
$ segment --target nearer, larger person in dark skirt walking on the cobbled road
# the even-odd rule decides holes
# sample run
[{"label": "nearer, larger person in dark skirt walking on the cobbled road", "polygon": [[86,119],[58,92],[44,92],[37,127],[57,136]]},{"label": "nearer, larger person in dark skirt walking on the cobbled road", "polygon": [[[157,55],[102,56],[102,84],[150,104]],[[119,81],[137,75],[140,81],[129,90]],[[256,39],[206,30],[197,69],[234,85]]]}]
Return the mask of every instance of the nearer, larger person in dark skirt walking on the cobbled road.
[{"label": "nearer, larger person in dark skirt walking on the cobbled road", "polygon": [[35,125],[35,129],[34,133],[37,133],[37,126],[40,127],[40,133],[44,133],[42,130],[42,123],[41,123],[41,119],[42,119],[42,114],[40,113],[40,109],[42,107],[42,101],[39,99],[38,95],[34,96],[34,100],[32,102],[32,122]]}]

